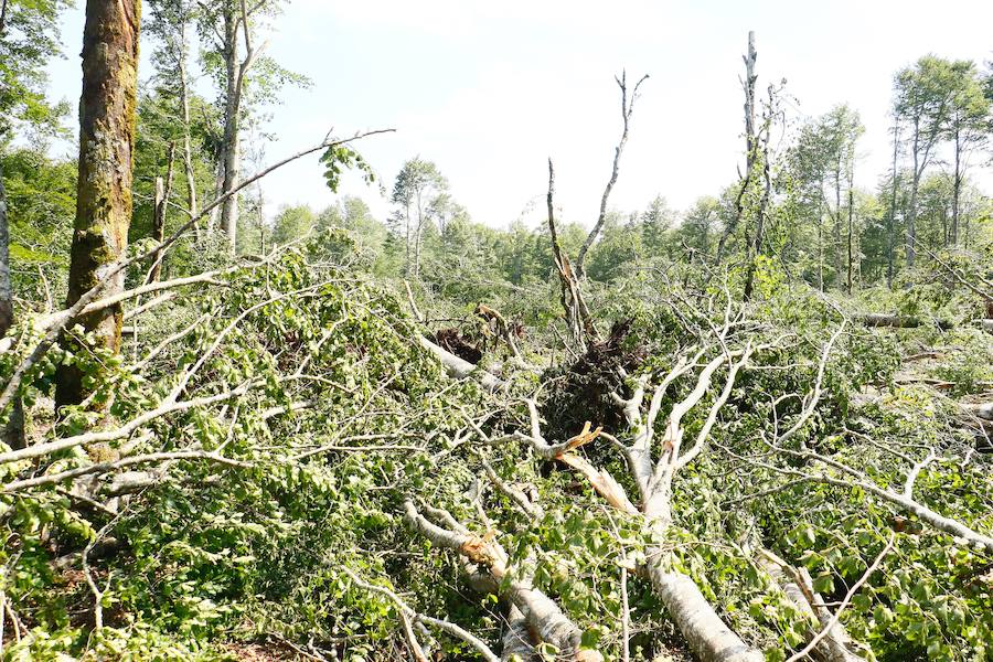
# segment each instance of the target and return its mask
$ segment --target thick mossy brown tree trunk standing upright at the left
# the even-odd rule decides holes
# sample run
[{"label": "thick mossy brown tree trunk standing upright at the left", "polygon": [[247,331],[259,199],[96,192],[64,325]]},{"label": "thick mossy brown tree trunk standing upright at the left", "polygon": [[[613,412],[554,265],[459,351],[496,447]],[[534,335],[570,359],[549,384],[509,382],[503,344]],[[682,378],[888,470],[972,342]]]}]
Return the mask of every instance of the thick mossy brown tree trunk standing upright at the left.
[{"label": "thick mossy brown tree trunk standing upright at the left", "polygon": [[[131,221],[131,169],[138,82],[139,0],[88,0],[83,31],[83,96],[79,100],[79,180],[66,306],[107,274],[127,247]],[[105,287],[121,291],[124,273]],[[120,350],[121,309],[79,318],[95,342]],[[76,366],[60,366],[57,406],[86,396]]]}]

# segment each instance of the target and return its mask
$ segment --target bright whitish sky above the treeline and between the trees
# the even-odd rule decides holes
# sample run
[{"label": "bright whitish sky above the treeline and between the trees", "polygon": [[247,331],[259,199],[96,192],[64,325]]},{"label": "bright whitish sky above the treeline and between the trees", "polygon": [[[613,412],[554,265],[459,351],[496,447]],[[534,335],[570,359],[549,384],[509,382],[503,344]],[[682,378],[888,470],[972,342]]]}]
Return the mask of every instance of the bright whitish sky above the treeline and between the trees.
[{"label": "bright whitish sky above the treeline and between the trees", "polygon": [[[83,7],[65,13],[66,58],[50,68],[55,98],[78,100]],[[393,128],[355,147],[388,188],[405,160],[437,163],[473,220],[505,227],[543,218],[547,159],[556,204],[590,226],[620,137],[615,75],[650,78],[631,120],[610,206],[644,209],[663,195],[686,209],[733,182],[743,161],[739,75],[756,32],[758,88],[787,81],[794,119],[847,103],[866,127],[856,183],[888,168],[894,73],[935,53],[993,60],[993,2],[983,0],[290,0],[268,55],[308,76],[268,109],[269,160],[349,136]],[[146,44],[139,78],[151,75]],[[209,93],[207,83],[200,89]],[[68,150],[68,147],[65,148]],[[316,157],[264,182],[267,211],[338,196]],[[974,173],[984,188],[989,169]],[[385,215],[376,186],[349,177],[339,192]]]}]

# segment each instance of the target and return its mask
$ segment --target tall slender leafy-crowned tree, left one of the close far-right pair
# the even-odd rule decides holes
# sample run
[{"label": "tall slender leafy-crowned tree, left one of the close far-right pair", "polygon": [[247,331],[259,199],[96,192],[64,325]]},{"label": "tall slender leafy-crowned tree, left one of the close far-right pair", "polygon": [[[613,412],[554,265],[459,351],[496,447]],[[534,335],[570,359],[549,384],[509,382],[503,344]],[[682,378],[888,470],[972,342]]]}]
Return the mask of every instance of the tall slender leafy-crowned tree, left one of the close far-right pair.
[{"label": "tall slender leafy-crowned tree, left one of the close far-right pair", "polygon": [[925,55],[896,76],[894,115],[908,128],[912,168],[910,171],[910,203],[906,223],[907,267],[914,267],[917,242],[917,196],[920,180],[935,159],[939,142],[948,130],[948,121],[955,95],[954,68],[947,60]]}]

